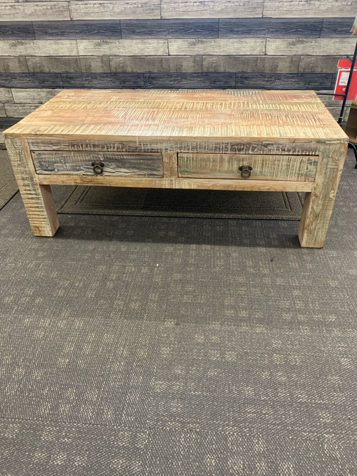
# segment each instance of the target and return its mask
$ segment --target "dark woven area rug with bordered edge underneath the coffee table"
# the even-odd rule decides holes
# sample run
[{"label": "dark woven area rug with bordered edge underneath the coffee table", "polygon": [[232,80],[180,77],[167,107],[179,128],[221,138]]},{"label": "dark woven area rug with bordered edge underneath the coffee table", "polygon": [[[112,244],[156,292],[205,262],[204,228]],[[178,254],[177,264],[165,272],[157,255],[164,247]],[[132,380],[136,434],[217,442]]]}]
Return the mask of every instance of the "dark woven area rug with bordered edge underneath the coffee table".
[{"label": "dark woven area rug with bordered edge underneath the coffee table", "polygon": [[299,220],[303,193],[52,186],[59,213]]}]

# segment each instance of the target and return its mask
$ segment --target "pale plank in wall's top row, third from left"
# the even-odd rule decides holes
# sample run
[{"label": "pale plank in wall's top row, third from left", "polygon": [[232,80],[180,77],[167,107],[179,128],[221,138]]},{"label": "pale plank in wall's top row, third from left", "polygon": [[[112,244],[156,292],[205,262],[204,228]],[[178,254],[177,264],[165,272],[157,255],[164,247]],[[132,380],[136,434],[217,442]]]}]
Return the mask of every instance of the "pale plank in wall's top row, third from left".
[{"label": "pale plank in wall's top row, third from left", "polygon": [[161,0],[162,18],[261,17],[263,0]]}]

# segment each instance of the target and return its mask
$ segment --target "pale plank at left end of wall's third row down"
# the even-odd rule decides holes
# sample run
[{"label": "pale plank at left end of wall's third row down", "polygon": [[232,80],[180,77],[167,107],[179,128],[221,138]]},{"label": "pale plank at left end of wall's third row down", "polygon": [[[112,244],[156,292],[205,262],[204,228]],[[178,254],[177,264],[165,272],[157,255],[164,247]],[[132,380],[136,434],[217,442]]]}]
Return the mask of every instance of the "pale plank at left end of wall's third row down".
[{"label": "pale plank at left end of wall's third row down", "polygon": [[1,56],[78,56],[76,40],[2,40]]}]

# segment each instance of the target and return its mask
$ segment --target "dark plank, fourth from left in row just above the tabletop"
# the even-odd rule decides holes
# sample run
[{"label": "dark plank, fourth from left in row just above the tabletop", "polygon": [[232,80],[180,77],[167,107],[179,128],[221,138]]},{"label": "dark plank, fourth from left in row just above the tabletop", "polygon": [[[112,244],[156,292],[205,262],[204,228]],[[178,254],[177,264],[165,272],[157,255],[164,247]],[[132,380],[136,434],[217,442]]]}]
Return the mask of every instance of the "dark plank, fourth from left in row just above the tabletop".
[{"label": "dark plank, fourth from left in row just above the tabletop", "polygon": [[330,89],[328,73],[236,73],[236,88],[252,89]]}]

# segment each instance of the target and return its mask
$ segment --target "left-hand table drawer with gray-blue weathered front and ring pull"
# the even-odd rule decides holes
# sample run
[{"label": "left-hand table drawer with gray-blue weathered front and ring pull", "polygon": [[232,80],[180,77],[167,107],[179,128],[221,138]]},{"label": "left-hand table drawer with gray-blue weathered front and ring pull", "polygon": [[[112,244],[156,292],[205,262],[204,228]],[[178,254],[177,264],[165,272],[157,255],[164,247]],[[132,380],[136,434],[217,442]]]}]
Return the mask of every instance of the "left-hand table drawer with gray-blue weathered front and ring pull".
[{"label": "left-hand table drawer with gray-blue weathered front and ring pull", "polygon": [[33,150],[37,174],[164,177],[162,154]]}]

